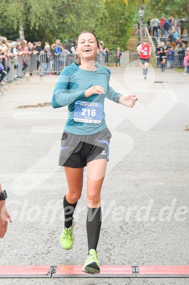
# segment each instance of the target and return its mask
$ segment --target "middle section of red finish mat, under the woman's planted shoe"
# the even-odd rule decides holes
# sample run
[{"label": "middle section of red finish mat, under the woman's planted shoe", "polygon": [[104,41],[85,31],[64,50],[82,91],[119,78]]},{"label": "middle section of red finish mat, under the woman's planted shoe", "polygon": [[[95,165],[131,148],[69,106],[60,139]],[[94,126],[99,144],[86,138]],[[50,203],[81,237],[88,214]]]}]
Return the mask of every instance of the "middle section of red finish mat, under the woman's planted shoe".
[{"label": "middle section of red finish mat, under the woman's planted shoe", "polygon": [[82,272],[81,265],[60,265],[52,277],[136,277],[135,268],[132,266],[100,266],[99,274],[88,274]]}]

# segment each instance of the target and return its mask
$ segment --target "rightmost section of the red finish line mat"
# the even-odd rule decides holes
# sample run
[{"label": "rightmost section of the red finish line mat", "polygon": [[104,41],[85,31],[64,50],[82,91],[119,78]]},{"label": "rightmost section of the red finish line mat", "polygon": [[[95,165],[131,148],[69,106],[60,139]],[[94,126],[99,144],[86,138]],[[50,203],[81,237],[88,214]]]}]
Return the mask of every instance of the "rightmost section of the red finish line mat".
[{"label": "rightmost section of the red finish line mat", "polygon": [[140,265],[136,277],[189,277],[189,266]]}]

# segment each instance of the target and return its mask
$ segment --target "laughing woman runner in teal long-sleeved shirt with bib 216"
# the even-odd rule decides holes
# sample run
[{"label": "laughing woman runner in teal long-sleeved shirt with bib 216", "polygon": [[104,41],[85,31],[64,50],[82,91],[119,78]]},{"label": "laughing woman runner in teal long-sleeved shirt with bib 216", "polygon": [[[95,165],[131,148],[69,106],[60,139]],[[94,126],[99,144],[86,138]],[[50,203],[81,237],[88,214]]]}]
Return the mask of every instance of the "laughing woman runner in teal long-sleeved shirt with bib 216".
[{"label": "laughing woman runner in teal long-sleeved shirt with bib 216", "polygon": [[78,64],[65,67],[57,80],[52,107],[68,106],[68,120],[61,138],[59,165],[64,166],[68,191],[63,199],[64,225],[60,242],[64,249],[74,244],[74,210],[81,196],[83,171],[87,166],[87,238],[88,256],[82,271],[99,273],[96,247],[102,213],[100,192],[104,180],[111,132],[106,126],[104,100],[108,98],[132,108],[135,95],[121,95],[109,86],[110,70],[95,62],[100,52],[93,32],[84,31],[77,39]]}]

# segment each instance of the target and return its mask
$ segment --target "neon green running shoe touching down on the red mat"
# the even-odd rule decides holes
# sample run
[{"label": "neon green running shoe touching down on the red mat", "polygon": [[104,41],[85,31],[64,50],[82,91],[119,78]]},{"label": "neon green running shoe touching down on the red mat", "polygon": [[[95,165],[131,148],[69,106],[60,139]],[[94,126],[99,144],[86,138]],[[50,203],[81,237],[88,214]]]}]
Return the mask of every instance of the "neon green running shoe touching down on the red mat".
[{"label": "neon green running shoe touching down on the red mat", "polygon": [[90,249],[89,255],[85,260],[82,271],[90,274],[100,273],[100,263],[98,262],[98,255],[95,249]]}]

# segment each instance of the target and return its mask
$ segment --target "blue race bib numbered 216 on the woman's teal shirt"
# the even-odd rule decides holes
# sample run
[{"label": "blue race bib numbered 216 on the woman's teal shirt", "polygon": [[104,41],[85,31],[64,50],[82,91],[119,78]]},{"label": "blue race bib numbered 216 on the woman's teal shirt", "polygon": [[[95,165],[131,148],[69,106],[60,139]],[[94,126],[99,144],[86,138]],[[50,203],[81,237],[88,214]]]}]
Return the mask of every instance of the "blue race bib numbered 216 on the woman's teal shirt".
[{"label": "blue race bib numbered 216 on the woman's teal shirt", "polygon": [[76,101],[74,121],[100,124],[102,122],[102,104],[97,102]]}]

